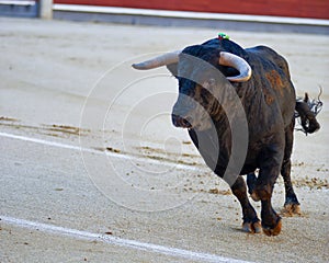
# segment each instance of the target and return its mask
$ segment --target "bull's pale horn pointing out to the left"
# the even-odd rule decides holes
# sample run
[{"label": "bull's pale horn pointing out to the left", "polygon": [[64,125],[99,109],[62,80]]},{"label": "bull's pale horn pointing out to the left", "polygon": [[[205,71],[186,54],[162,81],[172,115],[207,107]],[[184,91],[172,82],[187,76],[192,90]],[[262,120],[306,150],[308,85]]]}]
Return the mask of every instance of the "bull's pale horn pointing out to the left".
[{"label": "bull's pale horn pointing out to the left", "polygon": [[144,62],[133,64],[132,66],[135,69],[145,70],[145,69],[159,68],[159,67],[170,65],[170,64],[177,64],[179,61],[180,53],[181,53],[181,50],[167,53],[161,56],[146,60]]}]

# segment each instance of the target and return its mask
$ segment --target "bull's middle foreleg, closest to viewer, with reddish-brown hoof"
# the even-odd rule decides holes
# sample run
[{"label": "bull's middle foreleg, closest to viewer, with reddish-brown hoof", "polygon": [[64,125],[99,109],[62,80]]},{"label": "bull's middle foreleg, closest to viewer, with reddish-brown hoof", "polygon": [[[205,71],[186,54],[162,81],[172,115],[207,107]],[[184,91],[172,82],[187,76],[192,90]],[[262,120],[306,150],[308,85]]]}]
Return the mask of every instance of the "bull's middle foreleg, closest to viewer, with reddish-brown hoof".
[{"label": "bull's middle foreleg, closest to viewer, with reddish-brown hoof", "polygon": [[279,153],[273,156],[273,149],[271,147],[270,151],[262,153],[260,172],[251,194],[254,201],[261,201],[262,228],[268,236],[279,235],[282,227],[281,217],[273,209],[271,198],[283,158]]}]

